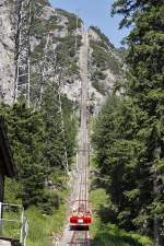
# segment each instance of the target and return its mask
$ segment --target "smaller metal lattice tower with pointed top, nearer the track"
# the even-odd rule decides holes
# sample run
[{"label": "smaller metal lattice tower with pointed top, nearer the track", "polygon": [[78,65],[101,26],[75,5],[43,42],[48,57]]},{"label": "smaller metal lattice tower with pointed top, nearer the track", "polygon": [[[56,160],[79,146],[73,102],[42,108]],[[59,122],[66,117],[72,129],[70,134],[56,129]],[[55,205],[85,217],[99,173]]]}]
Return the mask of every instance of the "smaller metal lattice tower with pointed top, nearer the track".
[{"label": "smaller metal lattice tower with pointed top, nearer the track", "polygon": [[50,80],[52,83],[52,91],[56,95],[55,107],[57,108],[58,119],[60,121],[59,131],[61,133],[61,138],[63,141],[63,153],[62,153],[62,165],[69,174],[69,164],[68,164],[68,152],[66,142],[66,131],[65,131],[65,120],[62,113],[62,66],[60,66],[57,61],[57,51],[56,44],[54,43],[54,34],[51,32],[48,33],[46,38],[46,45],[44,49],[43,62],[42,62],[42,79],[40,79],[40,87],[39,87],[39,107],[42,107],[43,95],[47,87],[47,81]]}]

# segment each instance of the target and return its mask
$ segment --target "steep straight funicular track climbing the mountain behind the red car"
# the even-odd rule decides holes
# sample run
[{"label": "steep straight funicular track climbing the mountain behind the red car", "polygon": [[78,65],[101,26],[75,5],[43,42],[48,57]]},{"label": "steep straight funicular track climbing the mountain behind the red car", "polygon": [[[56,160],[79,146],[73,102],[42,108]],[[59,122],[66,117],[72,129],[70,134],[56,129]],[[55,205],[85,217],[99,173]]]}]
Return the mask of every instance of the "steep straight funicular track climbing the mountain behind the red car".
[{"label": "steep straight funicular track climbing the mountain behind the red car", "polygon": [[[83,45],[80,51],[81,68],[81,124],[78,144],[78,165],[77,177],[72,190],[71,209],[74,210],[78,203],[79,213],[89,210],[87,208],[87,33],[83,33]],[[79,219],[80,220],[80,219]],[[79,222],[82,223],[82,222]],[[79,224],[80,225],[80,224]],[[86,225],[82,225],[86,226]],[[74,227],[73,227],[74,229]],[[75,227],[70,231],[69,226],[65,230],[60,246],[90,246],[89,229]]]}]

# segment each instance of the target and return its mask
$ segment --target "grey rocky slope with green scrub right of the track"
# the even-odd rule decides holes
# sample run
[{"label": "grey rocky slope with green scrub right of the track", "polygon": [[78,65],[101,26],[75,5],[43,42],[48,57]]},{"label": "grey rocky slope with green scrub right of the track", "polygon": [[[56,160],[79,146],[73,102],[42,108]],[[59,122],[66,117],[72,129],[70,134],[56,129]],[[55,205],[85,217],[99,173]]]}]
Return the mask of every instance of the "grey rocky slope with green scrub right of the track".
[{"label": "grey rocky slope with green scrub right of the track", "polygon": [[87,33],[90,40],[89,98],[93,114],[97,115],[107,96],[113,93],[116,81],[122,78],[122,58],[109,40],[106,42],[107,37],[104,34],[98,34],[92,27]]}]

